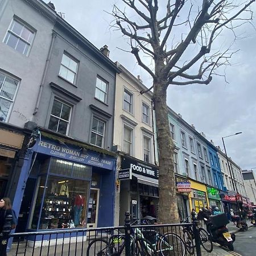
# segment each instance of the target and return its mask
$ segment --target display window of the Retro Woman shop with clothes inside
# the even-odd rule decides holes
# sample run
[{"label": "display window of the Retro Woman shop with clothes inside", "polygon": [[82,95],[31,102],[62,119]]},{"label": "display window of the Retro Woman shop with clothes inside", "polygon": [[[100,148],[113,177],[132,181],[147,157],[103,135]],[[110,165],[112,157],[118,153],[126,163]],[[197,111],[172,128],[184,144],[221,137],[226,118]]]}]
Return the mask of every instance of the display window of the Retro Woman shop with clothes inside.
[{"label": "display window of the Retro Woman shop with clothes inside", "polygon": [[[43,165],[47,166],[46,163]],[[63,171],[60,171],[61,166]],[[83,179],[91,176],[91,168],[51,159],[49,173],[51,174],[41,175],[38,178],[29,228],[56,229],[74,227],[74,225],[84,227],[90,181]]]}]

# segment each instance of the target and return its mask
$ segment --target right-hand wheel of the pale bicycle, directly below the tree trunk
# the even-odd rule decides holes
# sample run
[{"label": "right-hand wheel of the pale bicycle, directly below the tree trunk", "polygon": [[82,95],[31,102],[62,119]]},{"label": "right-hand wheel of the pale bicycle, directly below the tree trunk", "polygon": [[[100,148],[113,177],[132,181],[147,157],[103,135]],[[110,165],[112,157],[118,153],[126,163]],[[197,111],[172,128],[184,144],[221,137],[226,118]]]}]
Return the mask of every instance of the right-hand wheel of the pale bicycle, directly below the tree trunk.
[{"label": "right-hand wheel of the pale bicycle, directly below the tree trunk", "polygon": [[186,253],[185,243],[175,233],[165,233],[158,242],[160,256],[184,256]]}]

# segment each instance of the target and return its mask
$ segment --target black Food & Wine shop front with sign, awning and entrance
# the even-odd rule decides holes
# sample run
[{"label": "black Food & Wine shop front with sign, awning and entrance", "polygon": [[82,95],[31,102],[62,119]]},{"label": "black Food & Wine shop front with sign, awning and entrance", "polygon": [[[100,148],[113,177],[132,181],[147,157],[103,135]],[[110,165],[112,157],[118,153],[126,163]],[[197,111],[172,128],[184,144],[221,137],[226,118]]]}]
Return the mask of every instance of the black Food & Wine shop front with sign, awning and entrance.
[{"label": "black Food & Wine shop front with sign, awning and entrance", "polygon": [[125,212],[133,218],[158,218],[158,168],[131,156],[121,156],[119,224],[124,224]]}]

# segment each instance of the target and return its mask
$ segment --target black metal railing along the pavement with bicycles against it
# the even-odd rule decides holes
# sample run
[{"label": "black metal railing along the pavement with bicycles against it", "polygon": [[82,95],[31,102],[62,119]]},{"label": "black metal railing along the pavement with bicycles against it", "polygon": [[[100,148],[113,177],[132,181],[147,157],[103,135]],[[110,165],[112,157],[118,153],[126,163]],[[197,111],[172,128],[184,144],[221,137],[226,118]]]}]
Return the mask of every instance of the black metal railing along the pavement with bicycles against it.
[{"label": "black metal railing along the pavement with bicycles against it", "polygon": [[[125,226],[74,228],[14,233],[8,256],[201,256],[200,238],[189,245],[183,230],[196,233],[195,224],[133,225],[126,216]],[[145,253],[146,251],[146,253]]]}]

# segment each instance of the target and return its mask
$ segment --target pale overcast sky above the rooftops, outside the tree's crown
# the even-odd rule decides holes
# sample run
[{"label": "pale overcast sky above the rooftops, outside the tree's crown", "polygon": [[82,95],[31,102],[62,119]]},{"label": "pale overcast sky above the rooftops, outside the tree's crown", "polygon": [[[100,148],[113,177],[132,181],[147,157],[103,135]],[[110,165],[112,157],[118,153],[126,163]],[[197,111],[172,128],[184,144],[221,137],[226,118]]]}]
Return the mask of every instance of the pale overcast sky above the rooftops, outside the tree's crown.
[{"label": "pale overcast sky above the rooftops, outside the tree's crown", "polygon": [[[162,1],[166,2],[159,2]],[[117,48],[127,48],[127,42],[120,31],[110,29],[113,17],[105,11],[112,11],[113,0],[52,2],[56,11],[65,13],[65,20],[94,46],[108,45],[110,59],[121,63],[134,76],[141,75],[143,83],[151,86],[150,76],[138,67],[133,55]],[[120,1],[115,2],[118,4]],[[256,9],[255,3],[251,9]],[[229,84],[222,77],[213,77],[209,85],[169,86],[167,104],[221,148],[221,137],[242,131],[240,135],[225,139],[226,150],[242,169],[250,170],[256,167],[256,32],[249,25],[238,30],[238,34],[246,32],[246,38],[237,40],[233,45],[233,49],[240,51],[233,55],[233,65],[225,69]],[[222,34],[221,40],[229,37],[230,34]]]}]

